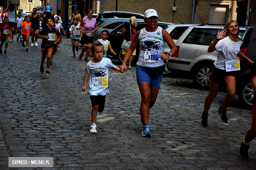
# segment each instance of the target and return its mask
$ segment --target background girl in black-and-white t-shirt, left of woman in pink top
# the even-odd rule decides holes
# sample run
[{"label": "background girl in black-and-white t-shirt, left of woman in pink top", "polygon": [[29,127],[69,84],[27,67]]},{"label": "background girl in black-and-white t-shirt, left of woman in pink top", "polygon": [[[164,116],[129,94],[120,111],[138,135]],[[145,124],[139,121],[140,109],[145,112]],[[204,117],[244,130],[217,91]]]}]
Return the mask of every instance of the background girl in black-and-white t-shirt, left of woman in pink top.
[{"label": "background girl in black-and-white t-shirt, left of woman in pink top", "polygon": [[70,36],[71,36],[73,57],[75,58],[75,49],[76,49],[76,52],[78,52],[78,43],[79,43],[79,40],[81,40],[82,30],[78,26],[78,19],[77,18],[74,18],[73,22],[74,22],[74,25],[71,25],[71,27],[69,28],[69,33],[70,33]]}]

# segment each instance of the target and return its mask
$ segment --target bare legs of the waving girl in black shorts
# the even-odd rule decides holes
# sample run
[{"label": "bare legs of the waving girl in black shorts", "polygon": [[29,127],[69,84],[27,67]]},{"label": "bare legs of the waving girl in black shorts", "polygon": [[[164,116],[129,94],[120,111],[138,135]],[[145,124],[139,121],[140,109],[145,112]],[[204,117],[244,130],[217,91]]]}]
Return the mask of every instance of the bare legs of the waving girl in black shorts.
[{"label": "bare legs of the waving girl in black shorts", "polygon": [[[227,107],[230,105],[230,103],[233,101],[236,93],[236,79],[235,77],[232,76],[226,76],[224,77],[224,83],[227,87],[227,94],[224,98],[223,104],[222,104],[222,109],[227,109]],[[204,102],[204,108],[203,112],[208,113],[210,106],[212,104],[212,101],[215,99],[217,96],[218,90],[220,87],[220,83],[216,84],[214,82],[210,82],[210,92],[205,98]]]}]

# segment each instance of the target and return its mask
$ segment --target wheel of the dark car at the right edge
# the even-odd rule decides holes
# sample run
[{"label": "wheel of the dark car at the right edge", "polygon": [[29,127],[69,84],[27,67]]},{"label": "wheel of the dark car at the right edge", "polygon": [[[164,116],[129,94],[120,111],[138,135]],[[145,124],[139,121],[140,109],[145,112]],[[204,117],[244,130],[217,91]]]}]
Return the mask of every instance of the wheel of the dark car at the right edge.
[{"label": "wheel of the dark car at the right edge", "polygon": [[254,90],[251,82],[243,83],[239,86],[238,98],[243,106],[252,106],[252,99],[254,97]]}]

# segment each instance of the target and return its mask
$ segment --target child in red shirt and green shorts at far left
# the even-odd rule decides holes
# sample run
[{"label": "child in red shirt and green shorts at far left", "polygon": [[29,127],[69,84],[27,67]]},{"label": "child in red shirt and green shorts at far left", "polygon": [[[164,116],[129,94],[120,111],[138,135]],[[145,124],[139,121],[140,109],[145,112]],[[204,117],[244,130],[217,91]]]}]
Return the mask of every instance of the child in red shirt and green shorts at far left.
[{"label": "child in red shirt and green shorts at far left", "polygon": [[8,39],[9,35],[11,35],[11,27],[8,24],[9,18],[5,17],[3,24],[0,25],[0,31],[1,31],[1,44],[0,44],[0,54],[3,54],[2,46],[5,43],[5,51],[4,54],[7,54],[7,47],[8,47]]}]

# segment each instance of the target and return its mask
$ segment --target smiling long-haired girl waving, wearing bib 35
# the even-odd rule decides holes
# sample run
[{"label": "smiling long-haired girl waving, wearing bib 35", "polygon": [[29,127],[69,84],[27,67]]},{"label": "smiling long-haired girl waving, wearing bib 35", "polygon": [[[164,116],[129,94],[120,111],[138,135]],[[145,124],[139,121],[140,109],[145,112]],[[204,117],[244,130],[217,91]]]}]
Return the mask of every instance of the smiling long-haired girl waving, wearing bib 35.
[{"label": "smiling long-haired girl waving, wearing bib 35", "polygon": [[233,101],[236,93],[236,72],[235,70],[240,70],[239,64],[233,64],[238,62],[238,58],[245,59],[250,64],[253,61],[248,59],[240,49],[243,47],[243,40],[238,37],[239,35],[239,25],[236,21],[231,20],[226,23],[224,29],[218,31],[216,39],[208,47],[208,52],[217,51],[218,58],[214,62],[214,68],[210,76],[210,92],[207,95],[203,113],[201,114],[201,125],[203,127],[208,126],[208,111],[212,104],[212,101],[216,97],[220,83],[224,81],[227,87],[227,94],[224,98],[222,106],[217,110],[221,116],[221,121],[227,123],[226,109]]}]

